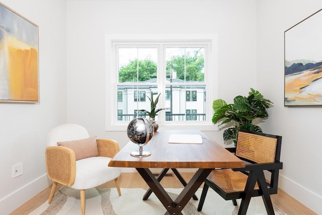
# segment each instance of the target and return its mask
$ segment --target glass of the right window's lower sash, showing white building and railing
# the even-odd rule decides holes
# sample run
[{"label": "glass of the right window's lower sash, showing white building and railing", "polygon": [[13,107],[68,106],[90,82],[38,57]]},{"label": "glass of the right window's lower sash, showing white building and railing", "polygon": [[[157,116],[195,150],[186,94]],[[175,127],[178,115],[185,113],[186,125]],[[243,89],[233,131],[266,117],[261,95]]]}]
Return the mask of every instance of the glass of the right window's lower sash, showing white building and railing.
[{"label": "glass of the right window's lower sash, showing white building and railing", "polygon": [[[171,100],[166,100],[166,121],[206,121],[206,101],[204,101],[205,85],[171,85],[166,86],[166,90],[172,95]],[[196,98],[193,102],[187,101],[187,95],[191,92]]]}]

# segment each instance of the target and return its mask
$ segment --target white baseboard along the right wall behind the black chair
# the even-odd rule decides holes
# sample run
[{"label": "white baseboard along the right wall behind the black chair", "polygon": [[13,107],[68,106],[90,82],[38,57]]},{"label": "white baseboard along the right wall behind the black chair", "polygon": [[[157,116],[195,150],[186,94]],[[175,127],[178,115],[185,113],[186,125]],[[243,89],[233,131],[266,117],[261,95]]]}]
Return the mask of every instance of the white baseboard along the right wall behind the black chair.
[{"label": "white baseboard along the right wall behind the black chair", "polygon": [[315,213],[322,214],[321,196],[318,196],[316,193],[313,193],[281,174],[279,175],[278,187]]}]

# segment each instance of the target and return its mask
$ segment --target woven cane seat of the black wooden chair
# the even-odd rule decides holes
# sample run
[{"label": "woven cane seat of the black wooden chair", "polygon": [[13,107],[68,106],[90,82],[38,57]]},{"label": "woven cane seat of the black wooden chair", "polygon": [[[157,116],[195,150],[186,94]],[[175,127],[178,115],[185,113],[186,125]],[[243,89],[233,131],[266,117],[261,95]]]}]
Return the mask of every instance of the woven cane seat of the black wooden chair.
[{"label": "woven cane seat of the black wooden chair", "polygon": [[[244,173],[234,172],[231,169],[214,170],[207,177],[226,193],[244,191],[247,178]],[[257,182],[254,189],[259,189]]]}]

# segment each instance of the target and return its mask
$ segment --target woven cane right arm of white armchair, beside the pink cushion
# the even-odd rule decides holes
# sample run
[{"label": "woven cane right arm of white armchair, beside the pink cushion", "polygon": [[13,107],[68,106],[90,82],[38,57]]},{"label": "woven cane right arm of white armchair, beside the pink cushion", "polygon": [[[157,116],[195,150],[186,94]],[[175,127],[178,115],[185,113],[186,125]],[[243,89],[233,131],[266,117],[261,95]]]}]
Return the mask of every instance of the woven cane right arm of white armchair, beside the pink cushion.
[{"label": "woven cane right arm of white armchair, beside the pink cushion", "polygon": [[113,139],[96,139],[99,156],[113,158],[120,151],[117,141]]}]

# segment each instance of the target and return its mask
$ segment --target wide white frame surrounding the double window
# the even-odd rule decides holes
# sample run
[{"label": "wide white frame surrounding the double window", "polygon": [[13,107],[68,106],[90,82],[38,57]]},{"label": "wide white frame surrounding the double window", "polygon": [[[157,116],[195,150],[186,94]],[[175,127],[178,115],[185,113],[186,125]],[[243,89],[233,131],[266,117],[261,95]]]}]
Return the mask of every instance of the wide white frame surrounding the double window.
[{"label": "wide white frame surrounding the double window", "polygon": [[[105,74],[106,74],[106,88],[105,88],[105,130],[106,131],[126,131],[128,122],[117,120],[117,86],[115,83],[117,71],[117,44],[124,43],[153,43],[164,41],[173,44],[185,44],[185,41],[195,42],[195,44],[206,43],[208,53],[205,55],[205,66],[208,66],[205,73],[206,87],[206,121],[159,121],[160,129],[199,129],[204,131],[218,130],[212,121],[213,109],[212,101],[218,98],[218,35],[217,34],[106,34],[105,35]],[[186,42],[187,43],[187,42]],[[190,45],[190,43],[189,43]],[[163,56],[164,57],[164,56]],[[158,64],[158,74],[163,73],[164,65]],[[159,78],[159,77],[158,77]],[[135,85],[135,83],[133,83]],[[145,83],[147,84],[147,83]],[[159,83],[151,83],[157,85],[160,92],[165,91],[164,86]],[[165,99],[160,97],[158,106],[163,107]],[[160,114],[165,114],[165,111],[160,111]],[[165,118],[165,117],[164,117]]]}]

